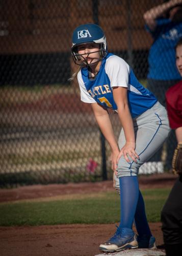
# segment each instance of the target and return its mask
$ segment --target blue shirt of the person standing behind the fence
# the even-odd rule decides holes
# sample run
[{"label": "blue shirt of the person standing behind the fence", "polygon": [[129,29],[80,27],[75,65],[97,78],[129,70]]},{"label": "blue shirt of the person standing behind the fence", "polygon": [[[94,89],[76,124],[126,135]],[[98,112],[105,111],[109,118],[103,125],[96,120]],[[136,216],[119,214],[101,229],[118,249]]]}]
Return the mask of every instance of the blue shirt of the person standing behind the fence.
[{"label": "blue shirt of the person standing behind the fence", "polygon": [[153,37],[149,51],[149,72],[147,77],[155,80],[180,80],[175,64],[175,45],[182,37],[182,23],[173,23],[170,19],[156,20],[157,27],[147,30]]}]

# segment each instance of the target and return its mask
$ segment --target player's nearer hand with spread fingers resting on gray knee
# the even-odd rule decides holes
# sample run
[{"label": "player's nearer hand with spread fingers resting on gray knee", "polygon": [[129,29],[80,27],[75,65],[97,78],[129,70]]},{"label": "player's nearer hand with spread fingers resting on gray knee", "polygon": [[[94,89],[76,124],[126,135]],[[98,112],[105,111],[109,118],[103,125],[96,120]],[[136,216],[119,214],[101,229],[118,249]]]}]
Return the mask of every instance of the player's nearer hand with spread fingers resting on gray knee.
[{"label": "player's nearer hand with spread fingers resting on gray knee", "polygon": [[135,162],[137,163],[137,159],[140,159],[139,156],[137,155],[135,151],[136,144],[135,142],[126,142],[125,145],[121,148],[121,151],[118,155],[117,158],[117,163],[120,159],[121,156],[125,158],[125,160],[130,163],[131,161],[129,160],[128,156]]}]

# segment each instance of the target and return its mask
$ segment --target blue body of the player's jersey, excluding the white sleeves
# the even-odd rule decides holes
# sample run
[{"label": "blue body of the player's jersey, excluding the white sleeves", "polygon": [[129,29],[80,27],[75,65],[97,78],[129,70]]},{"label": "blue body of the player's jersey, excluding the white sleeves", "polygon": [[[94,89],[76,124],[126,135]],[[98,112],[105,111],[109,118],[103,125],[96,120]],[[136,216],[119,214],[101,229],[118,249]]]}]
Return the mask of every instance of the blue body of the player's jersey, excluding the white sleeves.
[{"label": "blue body of the player's jersey, excluding the white sleeves", "polygon": [[[88,93],[92,96],[92,98],[95,99],[98,104],[100,104],[104,108],[117,110],[117,105],[114,101],[111,88],[111,81],[108,74],[106,73],[105,67],[107,59],[111,56],[115,55],[108,54],[107,57],[102,60],[100,70],[94,79],[89,79],[89,73],[87,68],[82,68],[82,78]],[[149,92],[142,86],[142,84],[136,78],[132,69],[129,70],[129,73],[127,75],[128,105],[132,117],[136,117],[145,112],[147,109],[151,108],[151,106],[157,101],[157,99],[151,92]],[[122,86],[122,84],[118,84],[118,86]]]}]

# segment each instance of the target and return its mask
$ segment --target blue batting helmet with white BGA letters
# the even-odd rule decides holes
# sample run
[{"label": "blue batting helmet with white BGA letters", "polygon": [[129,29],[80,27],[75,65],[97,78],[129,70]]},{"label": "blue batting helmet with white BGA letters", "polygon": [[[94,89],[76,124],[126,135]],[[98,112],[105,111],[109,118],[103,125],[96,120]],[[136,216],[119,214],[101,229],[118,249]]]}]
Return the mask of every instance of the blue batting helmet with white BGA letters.
[{"label": "blue batting helmet with white BGA letters", "polygon": [[95,24],[85,24],[77,27],[72,35],[71,55],[77,65],[82,65],[77,53],[77,46],[83,44],[99,44],[99,52],[101,59],[107,54],[106,36],[103,30]]}]

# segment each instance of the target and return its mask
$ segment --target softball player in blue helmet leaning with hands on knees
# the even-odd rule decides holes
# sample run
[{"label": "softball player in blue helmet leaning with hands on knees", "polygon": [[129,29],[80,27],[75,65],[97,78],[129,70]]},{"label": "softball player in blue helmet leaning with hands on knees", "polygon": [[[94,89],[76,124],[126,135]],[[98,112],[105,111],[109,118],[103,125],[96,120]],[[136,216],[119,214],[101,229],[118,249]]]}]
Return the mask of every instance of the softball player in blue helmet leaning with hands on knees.
[{"label": "softball player in blue helmet leaning with hands on knees", "polygon": [[[119,178],[120,224],[113,237],[99,246],[104,252],[126,248],[155,248],[138,185],[139,167],[162,146],[170,132],[167,112],[139,83],[120,57],[107,51],[103,30],[94,24],[77,27],[71,54],[80,66],[81,100],[90,103],[103,135],[111,146],[112,169]],[[108,109],[118,113],[122,129],[116,142]],[[135,224],[138,236],[132,226]]]}]

